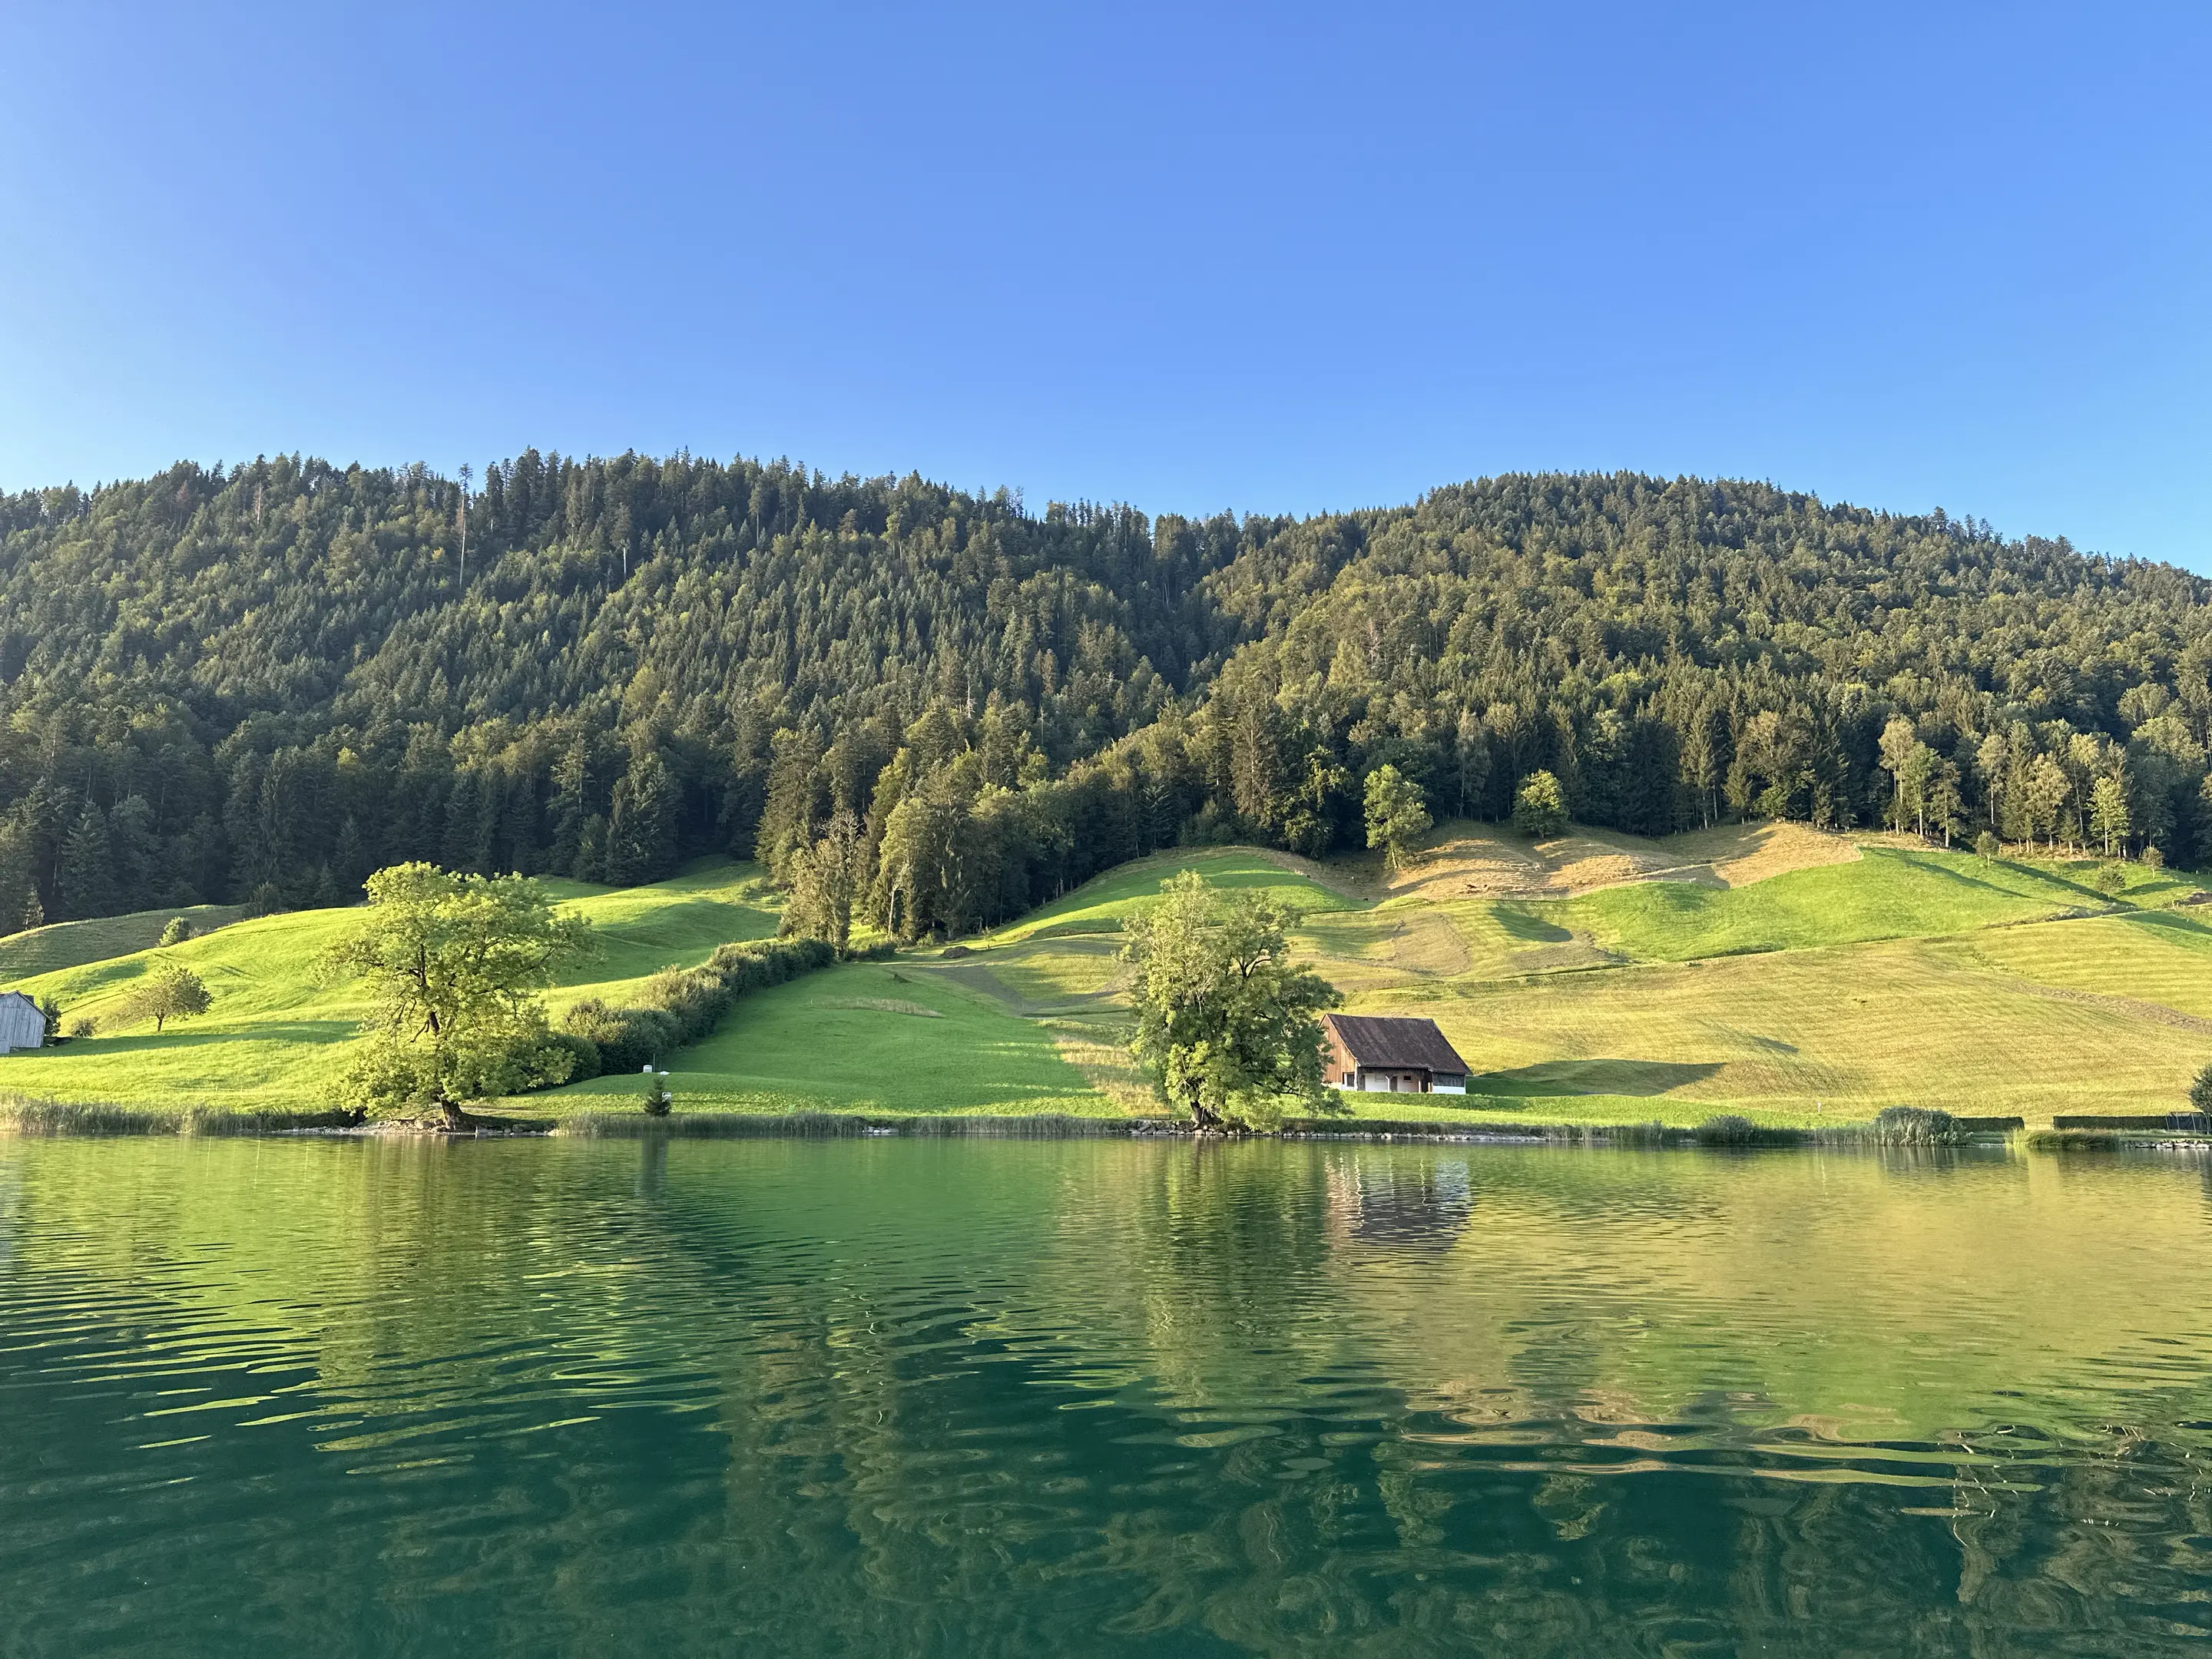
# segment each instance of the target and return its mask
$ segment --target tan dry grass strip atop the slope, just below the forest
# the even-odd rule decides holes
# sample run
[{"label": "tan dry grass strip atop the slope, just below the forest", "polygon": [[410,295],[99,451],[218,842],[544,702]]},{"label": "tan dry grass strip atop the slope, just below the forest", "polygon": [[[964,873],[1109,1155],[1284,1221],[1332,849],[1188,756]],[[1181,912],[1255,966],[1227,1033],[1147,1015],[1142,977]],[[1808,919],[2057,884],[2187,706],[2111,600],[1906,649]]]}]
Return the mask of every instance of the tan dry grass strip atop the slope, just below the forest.
[{"label": "tan dry grass strip atop the slope, just below the forest", "polygon": [[1391,898],[1571,898],[1630,880],[1743,887],[1792,869],[1847,865],[1858,845],[1803,823],[1743,823],[1646,838],[1584,830],[1531,843],[1500,825],[1447,823],[1389,883]]}]

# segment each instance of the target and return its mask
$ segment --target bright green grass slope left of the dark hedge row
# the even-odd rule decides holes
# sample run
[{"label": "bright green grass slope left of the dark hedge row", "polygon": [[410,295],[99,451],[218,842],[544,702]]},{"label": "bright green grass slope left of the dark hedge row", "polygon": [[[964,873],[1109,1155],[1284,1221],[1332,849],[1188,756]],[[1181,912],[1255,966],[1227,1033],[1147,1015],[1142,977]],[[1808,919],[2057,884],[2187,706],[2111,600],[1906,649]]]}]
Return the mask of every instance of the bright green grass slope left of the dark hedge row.
[{"label": "bright green grass slope left of the dark hedge row", "polygon": [[[690,967],[726,940],[776,929],[752,865],[714,865],[630,889],[549,885],[593,922],[599,942],[599,956],[571,969],[555,989],[555,1009],[582,995],[619,1002],[661,967]],[[62,1102],[325,1108],[365,1006],[358,987],[325,984],[316,958],[361,916],[358,909],[263,916],[168,949],[13,980],[7,989],[55,995],[64,1022],[91,1018],[100,1035],[0,1055],[0,1091]],[[115,1026],[122,995],[159,960],[190,967],[215,1006],[161,1035],[150,1022]]]}]

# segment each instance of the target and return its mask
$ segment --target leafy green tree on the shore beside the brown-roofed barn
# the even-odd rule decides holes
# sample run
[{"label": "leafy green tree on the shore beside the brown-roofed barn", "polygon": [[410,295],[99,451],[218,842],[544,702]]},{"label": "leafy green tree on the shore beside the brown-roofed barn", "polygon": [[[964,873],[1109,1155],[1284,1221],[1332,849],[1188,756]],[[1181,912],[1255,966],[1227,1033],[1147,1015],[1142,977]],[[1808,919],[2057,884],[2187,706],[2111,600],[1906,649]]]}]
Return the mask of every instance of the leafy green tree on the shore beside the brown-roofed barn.
[{"label": "leafy green tree on the shore beside the brown-roofed barn", "polygon": [[1137,971],[1130,1053],[1161,1099],[1201,1133],[1263,1128],[1285,1106],[1327,1110],[1323,1009],[1336,989],[1290,960],[1290,914],[1265,894],[1219,894],[1186,869],[1128,922],[1121,960]]}]

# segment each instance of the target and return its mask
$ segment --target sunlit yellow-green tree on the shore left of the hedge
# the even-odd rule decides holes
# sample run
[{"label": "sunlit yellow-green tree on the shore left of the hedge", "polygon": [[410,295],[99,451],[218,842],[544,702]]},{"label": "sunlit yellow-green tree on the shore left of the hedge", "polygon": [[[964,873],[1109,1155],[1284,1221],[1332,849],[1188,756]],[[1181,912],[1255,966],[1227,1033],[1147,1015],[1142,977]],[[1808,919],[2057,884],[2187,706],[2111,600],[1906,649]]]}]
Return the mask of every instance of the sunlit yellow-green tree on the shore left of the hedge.
[{"label": "sunlit yellow-green tree on the shore left of the hedge", "polygon": [[591,949],[584,920],[526,876],[411,863],[378,869],[367,891],[369,914],[325,958],[361,975],[376,1006],[349,1104],[436,1108],[460,1128],[465,1102],[566,1082],[573,1055],[538,991]]}]

